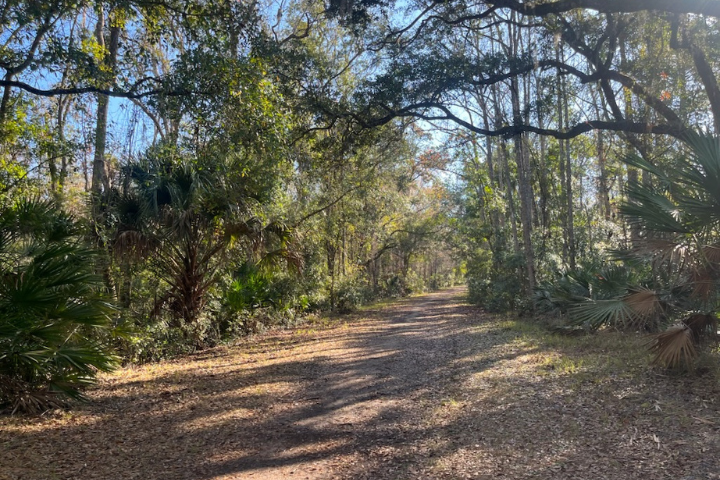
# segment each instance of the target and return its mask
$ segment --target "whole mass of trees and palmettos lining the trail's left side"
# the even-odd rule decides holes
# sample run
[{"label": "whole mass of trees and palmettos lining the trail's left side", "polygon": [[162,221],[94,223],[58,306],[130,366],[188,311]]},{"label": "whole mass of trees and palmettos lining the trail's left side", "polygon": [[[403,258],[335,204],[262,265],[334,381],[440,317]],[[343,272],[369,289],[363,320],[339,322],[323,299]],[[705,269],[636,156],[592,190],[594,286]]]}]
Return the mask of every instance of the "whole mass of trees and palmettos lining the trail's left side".
[{"label": "whole mass of trees and palmettos lining the trail's left side", "polygon": [[269,8],[1,6],[0,408],[455,281],[423,256],[447,217],[409,124],[325,122],[358,44]]}]

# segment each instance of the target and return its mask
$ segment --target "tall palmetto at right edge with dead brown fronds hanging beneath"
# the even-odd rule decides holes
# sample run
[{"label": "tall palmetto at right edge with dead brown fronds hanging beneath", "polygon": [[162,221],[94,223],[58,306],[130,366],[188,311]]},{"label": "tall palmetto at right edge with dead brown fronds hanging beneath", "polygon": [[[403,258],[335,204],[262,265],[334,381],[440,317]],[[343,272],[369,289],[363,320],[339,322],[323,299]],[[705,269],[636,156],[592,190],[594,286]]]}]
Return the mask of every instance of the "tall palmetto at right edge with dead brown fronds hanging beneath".
[{"label": "tall palmetto at right edge with dead brown fronds hanging beneath", "polygon": [[668,291],[671,302],[653,299],[649,292],[628,297],[634,310],[660,312],[674,308],[681,324],[658,334],[651,346],[655,362],[665,366],[689,364],[696,344],[716,336],[717,318],[698,310],[717,311],[720,279],[720,140],[690,133],[686,137],[689,157],[671,168],[629,160],[655,177],[654,185],[633,184],[629,201],[621,209],[647,233],[635,254],[653,259],[656,272],[665,268],[674,279]]}]

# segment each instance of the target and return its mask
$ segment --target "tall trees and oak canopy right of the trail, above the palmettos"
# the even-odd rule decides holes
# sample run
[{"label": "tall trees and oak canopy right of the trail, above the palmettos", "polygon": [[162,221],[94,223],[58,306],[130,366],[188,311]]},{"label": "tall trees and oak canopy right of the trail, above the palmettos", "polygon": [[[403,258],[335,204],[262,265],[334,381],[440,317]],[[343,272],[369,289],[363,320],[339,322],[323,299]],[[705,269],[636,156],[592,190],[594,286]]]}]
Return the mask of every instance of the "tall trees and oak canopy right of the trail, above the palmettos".
[{"label": "tall trees and oak canopy right of the trail, above the palmettos", "polygon": [[[398,8],[402,16],[390,14]],[[618,160],[634,152],[654,164],[694,128],[718,129],[712,5],[359,0],[331,2],[329,12],[368,56],[384,56],[359,84],[355,121],[417,118],[455,130],[450,139],[476,135],[475,152],[455,150],[474,171],[461,204],[479,244],[471,276],[486,278],[471,285],[498,284],[487,278],[487,252],[513,275],[524,270],[527,295],[558,267],[635,242],[637,226],[613,221],[617,200],[638,175],[655,180]],[[504,207],[491,207],[498,201]],[[511,248],[517,262],[505,258]],[[515,278],[504,270],[501,284]],[[476,297],[493,303],[486,287]]]}]

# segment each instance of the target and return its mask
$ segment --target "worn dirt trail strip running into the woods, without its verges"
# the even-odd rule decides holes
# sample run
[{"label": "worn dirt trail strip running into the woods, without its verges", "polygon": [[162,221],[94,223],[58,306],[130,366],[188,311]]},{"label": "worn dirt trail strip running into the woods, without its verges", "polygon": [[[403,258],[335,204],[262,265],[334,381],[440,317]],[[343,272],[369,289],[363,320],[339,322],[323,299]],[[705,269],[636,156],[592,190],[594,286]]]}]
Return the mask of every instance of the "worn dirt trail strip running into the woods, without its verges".
[{"label": "worn dirt trail strip running into the woods, without its verges", "polygon": [[[256,455],[229,470],[240,467],[260,479],[377,478],[368,468],[395,463],[400,450],[427,436],[427,411],[419,407],[440,406],[448,375],[460,373],[450,367],[467,353],[471,336],[459,293],[386,308],[374,320],[352,324],[331,348],[318,345],[303,377],[305,398],[270,420],[284,433],[266,437]],[[388,465],[388,473],[406,466]]]}]

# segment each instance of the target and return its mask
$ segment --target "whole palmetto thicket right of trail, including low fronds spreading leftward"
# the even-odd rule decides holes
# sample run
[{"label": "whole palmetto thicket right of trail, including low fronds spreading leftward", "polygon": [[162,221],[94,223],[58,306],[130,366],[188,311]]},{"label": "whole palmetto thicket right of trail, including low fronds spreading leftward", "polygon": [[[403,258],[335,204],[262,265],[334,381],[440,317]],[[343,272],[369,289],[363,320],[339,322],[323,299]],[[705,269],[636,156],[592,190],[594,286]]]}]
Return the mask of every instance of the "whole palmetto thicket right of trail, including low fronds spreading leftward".
[{"label": "whole palmetto thicket right of trail, including low fronds spreading leftward", "polygon": [[623,265],[584,265],[540,285],[536,305],[567,313],[589,329],[602,326],[654,331],[657,363],[677,366],[715,336],[720,271],[720,141],[690,134],[689,155],[656,165],[630,165],[652,175],[631,182],[620,208],[639,229],[632,249],[616,252]]}]

